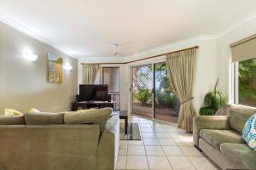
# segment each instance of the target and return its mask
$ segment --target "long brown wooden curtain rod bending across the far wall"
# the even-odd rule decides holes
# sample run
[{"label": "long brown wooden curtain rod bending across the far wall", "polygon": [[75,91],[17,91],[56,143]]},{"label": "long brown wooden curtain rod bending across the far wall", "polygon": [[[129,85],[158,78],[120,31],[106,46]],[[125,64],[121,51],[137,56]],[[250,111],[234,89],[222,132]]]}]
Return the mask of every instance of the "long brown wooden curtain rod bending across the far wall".
[{"label": "long brown wooden curtain rod bending across the far wall", "polygon": [[[180,49],[180,50],[177,50],[177,51],[172,51],[170,53],[166,53],[166,54],[174,54],[174,53],[178,53],[178,52],[181,52],[181,51],[185,51],[185,50],[188,50],[188,49],[194,49],[194,48],[199,48],[198,46],[195,46],[193,48],[184,48],[184,49]],[[145,59],[153,59],[153,58],[157,58],[157,57],[160,57],[160,56],[163,56],[163,55],[166,55],[166,54],[158,54],[158,55],[153,55],[153,56],[150,56],[150,57],[146,57],[146,58],[143,58],[143,59],[135,59],[135,60],[132,60],[132,61],[127,61],[127,62],[122,62],[122,63],[102,63],[102,62],[96,62],[96,63],[81,63],[81,65],[95,65],[95,64],[100,64],[100,65],[125,65],[125,64],[130,64],[130,63],[134,63],[134,62],[137,62],[137,61],[142,61],[142,60],[145,60]]]}]

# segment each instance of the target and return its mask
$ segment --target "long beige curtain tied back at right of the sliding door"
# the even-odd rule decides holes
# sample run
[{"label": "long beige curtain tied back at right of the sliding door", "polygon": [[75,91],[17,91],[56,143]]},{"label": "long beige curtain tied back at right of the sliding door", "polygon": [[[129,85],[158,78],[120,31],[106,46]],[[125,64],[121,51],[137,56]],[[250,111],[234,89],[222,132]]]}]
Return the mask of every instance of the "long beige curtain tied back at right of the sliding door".
[{"label": "long beige curtain tied back at right of the sliding door", "polygon": [[195,75],[196,48],[166,55],[166,64],[171,86],[181,102],[177,127],[192,132],[193,116],[192,89]]}]

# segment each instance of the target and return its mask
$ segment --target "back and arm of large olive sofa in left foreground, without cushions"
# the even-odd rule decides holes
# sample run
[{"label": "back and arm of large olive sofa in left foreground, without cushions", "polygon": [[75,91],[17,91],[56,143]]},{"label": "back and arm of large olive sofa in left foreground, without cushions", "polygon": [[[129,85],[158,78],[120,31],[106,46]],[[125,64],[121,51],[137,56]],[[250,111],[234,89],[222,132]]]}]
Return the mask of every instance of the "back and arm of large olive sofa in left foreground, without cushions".
[{"label": "back and arm of large olive sofa in left foreground, without cushions", "polygon": [[[98,110],[104,111],[112,110]],[[106,123],[87,124],[73,122],[71,117],[69,124],[65,124],[65,114],[60,123],[58,116],[58,124],[47,124],[52,118],[46,116],[43,124],[30,115],[25,116],[28,122],[23,125],[9,125],[5,120],[6,125],[0,125],[0,169],[114,169],[119,150],[119,116],[111,116]]]}]

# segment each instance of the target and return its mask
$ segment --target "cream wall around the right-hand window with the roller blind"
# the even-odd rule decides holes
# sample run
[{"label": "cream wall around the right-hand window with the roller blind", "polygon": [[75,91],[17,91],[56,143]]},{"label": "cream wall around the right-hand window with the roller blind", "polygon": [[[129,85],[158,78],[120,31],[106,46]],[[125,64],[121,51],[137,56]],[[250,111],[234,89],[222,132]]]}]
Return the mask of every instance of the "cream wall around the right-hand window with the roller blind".
[{"label": "cream wall around the right-hand window with the roller blind", "polygon": [[217,39],[217,75],[219,87],[229,94],[231,102],[230,81],[230,44],[256,33],[256,19],[248,21],[245,25],[218,37]]}]

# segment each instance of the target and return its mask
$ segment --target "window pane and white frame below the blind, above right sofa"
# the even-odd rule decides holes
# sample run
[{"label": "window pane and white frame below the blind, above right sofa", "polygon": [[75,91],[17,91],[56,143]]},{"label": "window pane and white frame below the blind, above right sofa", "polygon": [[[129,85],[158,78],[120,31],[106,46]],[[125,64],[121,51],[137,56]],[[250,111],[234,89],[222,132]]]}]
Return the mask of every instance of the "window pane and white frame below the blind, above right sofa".
[{"label": "window pane and white frame below the blind, above right sofa", "polygon": [[234,103],[256,107],[256,58],[234,62]]}]

